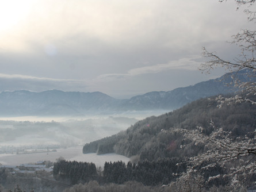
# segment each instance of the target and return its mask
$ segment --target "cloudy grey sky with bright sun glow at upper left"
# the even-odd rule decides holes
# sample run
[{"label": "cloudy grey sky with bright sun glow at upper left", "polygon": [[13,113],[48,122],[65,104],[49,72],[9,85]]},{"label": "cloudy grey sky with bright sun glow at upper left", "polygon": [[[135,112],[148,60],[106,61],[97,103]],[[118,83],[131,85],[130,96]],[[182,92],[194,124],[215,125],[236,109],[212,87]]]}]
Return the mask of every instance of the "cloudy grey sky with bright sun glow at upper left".
[{"label": "cloudy grey sky with bright sun glow at upper left", "polygon": [[0,91],[101,91],[130,98],[214,79],[202,47],[224,59],[251,28],[234,1],[0,0]]}]

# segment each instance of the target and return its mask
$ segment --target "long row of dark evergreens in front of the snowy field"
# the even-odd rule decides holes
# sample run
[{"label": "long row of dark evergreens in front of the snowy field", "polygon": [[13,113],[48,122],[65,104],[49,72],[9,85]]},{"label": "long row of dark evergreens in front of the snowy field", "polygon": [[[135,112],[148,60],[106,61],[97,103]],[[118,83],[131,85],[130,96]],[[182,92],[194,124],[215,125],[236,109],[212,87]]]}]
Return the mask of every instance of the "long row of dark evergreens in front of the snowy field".
[{"label": "long row of dark evergreens in front of the snowy field", "polygon": [[[205,162],[208,163],[208,162]],[[96,170],[95,164],[83,162],[68,162],[62,160],[54,165],[54,178],[71,183],[86,183],[97,181],[99,183],[123,184],[129,181],[143,183],[146,186],[167,185],[174,182],[186,168],[189,166],[182,159],[163,158],[156,161],[144,160],[137,164],[128,162],[106,162],[103,174]],[[207,180],[209,176],[223,174],[221,167],[213,167],[211,170],[204,171]],[[220,181],[210,183],[212,185],[220,184]],[[222,183],[221,183],[222,184]]]}]

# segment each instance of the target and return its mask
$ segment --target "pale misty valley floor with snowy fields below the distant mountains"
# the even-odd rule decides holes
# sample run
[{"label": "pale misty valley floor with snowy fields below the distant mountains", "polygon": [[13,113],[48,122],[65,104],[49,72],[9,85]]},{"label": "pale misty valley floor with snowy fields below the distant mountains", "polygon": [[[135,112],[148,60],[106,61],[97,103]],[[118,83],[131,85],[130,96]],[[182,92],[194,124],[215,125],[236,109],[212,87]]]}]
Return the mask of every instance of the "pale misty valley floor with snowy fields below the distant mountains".
[{"label": "pale misty valley floor with snowy fields below the distant mountains", "polygon": [[[66,160],[93,162],[97,166],[104,166],[106,161],[128,162],[128,158],[113,153],[83,155],[82,146],[126,130],[143,118],[164,113],[166,112],[144,111],[83,117],[2,117],[0,163],[18,165],[41,160],[55,162],[60,157]],[[31,151],[37,153],[28,153]]]}]

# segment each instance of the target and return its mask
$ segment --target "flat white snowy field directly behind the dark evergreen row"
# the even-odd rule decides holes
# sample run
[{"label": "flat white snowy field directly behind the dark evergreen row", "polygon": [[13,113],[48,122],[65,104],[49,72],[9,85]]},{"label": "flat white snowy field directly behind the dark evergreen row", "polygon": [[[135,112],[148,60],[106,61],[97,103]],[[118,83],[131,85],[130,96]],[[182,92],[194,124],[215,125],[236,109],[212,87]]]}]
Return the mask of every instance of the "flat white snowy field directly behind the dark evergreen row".
[{"label": "flat white snowy field directly behind the dark evergreen row", "polygon": [[96,155],[96,153],[82,153],[82,146],[70,147],[67,149],[57,149],[57,152],[44,152],[44,153],[28,153],[21,155],[0,154],[0,163],[3,165],[17,166],[23,163],[36,163],[41,160],[50,160],[56,162],[56,159],[63,157],[66,160],[76,160],[78,162],[93,162],[97,167],[104,167],[105,162],[123,161],[129,162],[129,158],[109,153],[105,155]]}]

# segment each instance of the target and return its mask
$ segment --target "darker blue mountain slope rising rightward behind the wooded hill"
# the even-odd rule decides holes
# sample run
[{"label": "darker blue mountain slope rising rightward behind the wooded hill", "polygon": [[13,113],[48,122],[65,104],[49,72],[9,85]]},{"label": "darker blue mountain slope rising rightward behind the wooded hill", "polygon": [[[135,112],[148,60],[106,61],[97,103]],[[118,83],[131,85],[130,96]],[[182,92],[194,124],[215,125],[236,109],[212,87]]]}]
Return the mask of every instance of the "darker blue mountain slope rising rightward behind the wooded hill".
[{"label": "darker blue mountain slope rising rightward behind the wooded hill", "polygon": [[125,106],[130,109],[177,109],[185,104],[204,97],[211,97],[218,94],[230,94],[238,91],[231,82],[235,75],[241,82],[256,80],[250,78],[248,70],[239,71],[236,74],[225,74],[217,79],[211,79],[197,83],[193,86],[179,87],[171,91],[153,91],[144,95],[138,95],[129,99]]}]

